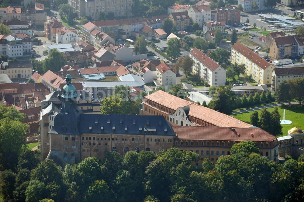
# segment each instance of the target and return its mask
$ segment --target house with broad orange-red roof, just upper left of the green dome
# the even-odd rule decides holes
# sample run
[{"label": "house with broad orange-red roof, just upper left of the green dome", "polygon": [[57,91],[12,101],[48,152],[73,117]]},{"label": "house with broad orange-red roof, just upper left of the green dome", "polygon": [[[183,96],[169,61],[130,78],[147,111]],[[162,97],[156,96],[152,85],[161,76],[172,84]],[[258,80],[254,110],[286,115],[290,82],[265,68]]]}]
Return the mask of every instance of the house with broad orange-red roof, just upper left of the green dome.
[{"label": "house with broad orange-red roof, just upper left of the green dome", "polygon": [[60,84],[66,83],[66,81],[62,77],[58,76],[57,74],[54,74],[51,70],[48,70],[40,78],[41,83],[45,84],[48,88],[50,88],[51,92],[58,91]]}]

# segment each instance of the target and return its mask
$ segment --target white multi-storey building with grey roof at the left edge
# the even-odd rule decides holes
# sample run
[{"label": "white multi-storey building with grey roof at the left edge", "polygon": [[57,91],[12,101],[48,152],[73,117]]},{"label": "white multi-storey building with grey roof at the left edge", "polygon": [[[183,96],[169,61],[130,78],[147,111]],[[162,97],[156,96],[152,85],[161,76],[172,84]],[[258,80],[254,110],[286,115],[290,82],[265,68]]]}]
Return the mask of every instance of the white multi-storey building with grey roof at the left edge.
[{"label": "white multi-storey building with grey roof at the left edge", "polygon": [[0,54],[9,58],[31,54],[32,39],[23,33],[0,35]]}]

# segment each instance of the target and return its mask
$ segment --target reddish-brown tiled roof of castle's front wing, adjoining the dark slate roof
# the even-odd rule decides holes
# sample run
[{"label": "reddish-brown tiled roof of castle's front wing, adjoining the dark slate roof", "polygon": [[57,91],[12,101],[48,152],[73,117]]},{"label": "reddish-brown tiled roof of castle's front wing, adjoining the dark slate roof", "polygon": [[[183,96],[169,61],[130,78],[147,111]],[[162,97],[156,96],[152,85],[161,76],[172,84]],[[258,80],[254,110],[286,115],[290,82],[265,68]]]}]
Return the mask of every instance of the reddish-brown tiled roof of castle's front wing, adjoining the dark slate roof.
[{"label": "reddish-brown tiled roof of castle's front wing, adjoining the dark slate roof", "polygon": [[261,128],[172,126],[178,139],[271,142],[277,137]]}]

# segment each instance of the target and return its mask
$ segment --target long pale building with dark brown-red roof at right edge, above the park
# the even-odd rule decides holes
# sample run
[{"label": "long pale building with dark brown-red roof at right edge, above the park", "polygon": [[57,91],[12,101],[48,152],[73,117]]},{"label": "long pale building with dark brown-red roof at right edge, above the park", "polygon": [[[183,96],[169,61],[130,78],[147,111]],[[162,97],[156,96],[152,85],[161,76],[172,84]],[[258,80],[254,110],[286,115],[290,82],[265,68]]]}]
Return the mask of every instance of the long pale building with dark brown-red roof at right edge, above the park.
[{"label": "long pale building with dark brown-red roof at right edge, above the park", "polygon": [[303,78],[304,67],[277,68],[272,70],[271,88],[275,90],[282,81]]}]

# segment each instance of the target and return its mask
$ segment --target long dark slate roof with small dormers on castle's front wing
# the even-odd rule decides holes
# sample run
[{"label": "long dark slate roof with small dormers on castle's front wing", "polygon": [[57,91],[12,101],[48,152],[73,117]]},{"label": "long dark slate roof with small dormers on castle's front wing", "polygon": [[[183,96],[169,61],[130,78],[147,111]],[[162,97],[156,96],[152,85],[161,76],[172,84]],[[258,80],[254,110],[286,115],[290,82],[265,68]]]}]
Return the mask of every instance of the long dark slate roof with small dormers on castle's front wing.
[{"label": "long dark slate roof with small dormers on castle's front wing", "polygon": [[164,116],[81,114],[79,123],[81,134],[174,135]]}]

